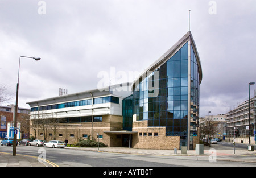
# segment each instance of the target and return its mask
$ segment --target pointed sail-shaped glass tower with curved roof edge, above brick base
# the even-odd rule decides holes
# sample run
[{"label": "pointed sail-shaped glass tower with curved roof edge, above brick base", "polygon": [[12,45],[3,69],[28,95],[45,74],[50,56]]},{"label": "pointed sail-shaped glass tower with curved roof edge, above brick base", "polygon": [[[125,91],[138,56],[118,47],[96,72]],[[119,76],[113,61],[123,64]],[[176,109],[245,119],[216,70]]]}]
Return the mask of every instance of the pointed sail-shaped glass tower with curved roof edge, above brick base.
[{"label": "pointed sail-shaped glass tower with curved roof edge, above brick base", "polygon": [[150,129],[164,127],[164,136],[179,137],[180,146],[193,149],[199,142],[201,80],[200,58],[189,31],[134,81],[134,121],[146,121],[148,135],[153,135]]}]

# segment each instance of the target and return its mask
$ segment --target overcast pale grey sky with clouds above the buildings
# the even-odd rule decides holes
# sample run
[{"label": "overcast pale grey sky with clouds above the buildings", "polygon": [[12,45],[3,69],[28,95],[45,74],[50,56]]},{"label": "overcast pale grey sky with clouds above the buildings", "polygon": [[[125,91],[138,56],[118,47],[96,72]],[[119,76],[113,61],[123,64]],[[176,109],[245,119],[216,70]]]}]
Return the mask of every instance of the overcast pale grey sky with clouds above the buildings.
[{"label": "overcast pale grey sky with clouds above the buildings", "polygon": [[9,104],[20,56],[42,58],[21,59],[19,107],[29,108],[59,88],[96,89],[102,71],[142,72],[188,32],[189,9],[203,69],[200,117],[226,113],[256,82],[255,0],[0,0],[0,84]]}]

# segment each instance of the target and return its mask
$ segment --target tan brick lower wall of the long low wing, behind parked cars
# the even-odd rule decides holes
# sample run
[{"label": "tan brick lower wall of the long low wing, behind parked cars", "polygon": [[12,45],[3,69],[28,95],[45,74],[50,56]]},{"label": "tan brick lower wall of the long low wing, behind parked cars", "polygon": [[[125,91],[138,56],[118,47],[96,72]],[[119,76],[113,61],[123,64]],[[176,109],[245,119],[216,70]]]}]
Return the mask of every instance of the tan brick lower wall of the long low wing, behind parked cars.
[{"label": "tan brick lower wall of the long low wing, behind parked cars", "polygon": [[[122,146],[122,139],[117,139],[116,135],[105,134],[104,131],[119,131],[122,130],[122,117],[118,115],[103,115],[102,122],[93,122],[93,135],[92,135],[92,123],[91,122],[81,122],[81,123],[59,123],[56,131],[56,140],[65,140],[68,139],[68,144],[76,144],[79,142],[79,139],[85,139],[82,135],[86,134],[87,136],[91,135],[91,138],[98,141],[97,133],[102,135],[103,138],[100,138],[99,141],[108,145],[108,146]],[[54,136],[49,136],[49,133],[52,133],[53,130],[48,128],[46,133],[46,140],[53,140]],[[30,129],[30,134],[35,136],[35,131]],[[37,138],[44,139],[43,130],[38,129]],[[59,136],[61,134],[62,136]],[[30,135],[30,136],[31,136]],[[71,136],[72,135],[72,136]]]}]

